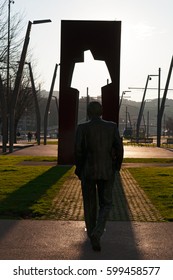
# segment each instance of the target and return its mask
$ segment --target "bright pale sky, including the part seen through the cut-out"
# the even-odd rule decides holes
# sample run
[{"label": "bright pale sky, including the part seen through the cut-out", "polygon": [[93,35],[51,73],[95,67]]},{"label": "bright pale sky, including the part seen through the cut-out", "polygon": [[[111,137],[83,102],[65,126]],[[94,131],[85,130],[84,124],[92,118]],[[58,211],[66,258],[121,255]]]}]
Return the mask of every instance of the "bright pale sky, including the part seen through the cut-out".
[{"label": "bright pale sky, including the part seen through the cut-out", "polygon": [[[28,21],[51,19],[49,24],[32,25],[29,47],[35,75],[42,89],[50,90],[55,64],[60,62],[61,20],[118,20],[121,21],[120,96],[141,101],[148,75],[158,75],[161,68],[161,88],[165,87],[173,55],[172,0],[15,0],[11,15],[21,13],[24,26]],[[26,28],[23,30],[25,35]],[[54,90],[59,90],[59,70]],[[80,96],[101,94],[109,73],[104,61],[93,60],[90,51],[85,63],[77,63],[72,87]],[[158,77],[148,87],[157,88]],[[133,89],[129,89],[133,88]],[[173,88],[173,77],[170,81]],[[163,91],[161,91],[161,96]],[[168,98],[173,98],[169,91]],[[146,99],[157,98],[157,90],[148,90]]]}]

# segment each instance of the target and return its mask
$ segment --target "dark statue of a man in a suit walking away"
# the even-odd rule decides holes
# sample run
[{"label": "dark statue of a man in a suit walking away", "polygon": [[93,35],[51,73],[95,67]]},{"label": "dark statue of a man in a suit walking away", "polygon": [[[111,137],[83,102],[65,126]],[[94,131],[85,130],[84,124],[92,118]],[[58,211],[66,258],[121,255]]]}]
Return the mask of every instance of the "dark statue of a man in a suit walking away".
[{"label": "dark statue of a man in a suit walking away", "polygon": [[76,132],[75,174],[81,180],[87,234],[93,250],[100,251],[100,237],[112,206],[115,172],[121,168],[123,148],[117,124],[101,119],[99,102],[90,102],[87,113],[90,120],[79,124]]}]

